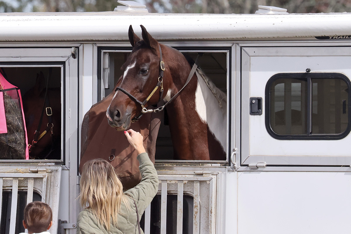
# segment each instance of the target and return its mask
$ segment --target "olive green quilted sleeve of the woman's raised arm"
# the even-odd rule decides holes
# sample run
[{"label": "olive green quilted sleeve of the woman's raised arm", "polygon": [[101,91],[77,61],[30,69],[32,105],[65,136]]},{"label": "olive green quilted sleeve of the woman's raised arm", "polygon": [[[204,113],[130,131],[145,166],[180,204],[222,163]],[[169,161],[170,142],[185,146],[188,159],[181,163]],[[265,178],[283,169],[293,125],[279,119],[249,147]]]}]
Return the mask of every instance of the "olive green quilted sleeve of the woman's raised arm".
[{"label": "olive green quilted sleeve of the woman's raised arm", "polygon": [[156,169],[147,153],[139,154],[137,159],[140,165],[141,181],[134,188],[127,190],[125,194],[136,200],[138,213],[141,215],[156,195],[159,181]]}]

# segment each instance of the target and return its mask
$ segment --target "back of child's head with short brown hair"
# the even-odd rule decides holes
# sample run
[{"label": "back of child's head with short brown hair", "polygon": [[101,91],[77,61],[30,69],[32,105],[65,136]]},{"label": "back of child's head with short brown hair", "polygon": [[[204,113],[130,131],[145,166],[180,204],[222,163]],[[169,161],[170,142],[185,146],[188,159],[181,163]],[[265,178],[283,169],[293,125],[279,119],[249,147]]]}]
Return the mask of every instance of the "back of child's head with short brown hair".
[{"label": "back of child's head with short brown hair", "polygon": [[[44,202],[33,201],[24,209],[23,226],[28,234],[50,234],[47,230],[52,225],[52,210]],[[25,234],[25,233],[20,233]]]}]

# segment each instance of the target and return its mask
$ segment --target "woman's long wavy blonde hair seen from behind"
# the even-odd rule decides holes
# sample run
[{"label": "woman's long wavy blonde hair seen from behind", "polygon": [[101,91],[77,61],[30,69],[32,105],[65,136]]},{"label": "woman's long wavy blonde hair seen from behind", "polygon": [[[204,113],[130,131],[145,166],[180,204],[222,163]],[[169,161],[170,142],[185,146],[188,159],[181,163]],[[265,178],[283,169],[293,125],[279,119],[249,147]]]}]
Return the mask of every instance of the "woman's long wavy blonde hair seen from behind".
[{"label": "woman's long wavy blonde hair seen from behind", "polygon": [[124,202],[129,210],[128,196],[112,165],[104,159],[86,162],[80,178],[80,203],[90,209],[99,223],[110,230],[110,222],[117,225],[117,217]]}]

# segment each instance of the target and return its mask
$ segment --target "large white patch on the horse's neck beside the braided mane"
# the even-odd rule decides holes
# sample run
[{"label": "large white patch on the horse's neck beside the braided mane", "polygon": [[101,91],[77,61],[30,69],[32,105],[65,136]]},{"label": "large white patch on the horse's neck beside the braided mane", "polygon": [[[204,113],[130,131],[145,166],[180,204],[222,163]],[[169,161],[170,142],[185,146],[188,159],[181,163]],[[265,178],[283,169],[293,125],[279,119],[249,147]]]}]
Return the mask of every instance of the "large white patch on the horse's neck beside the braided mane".
[{"label": "large white patch on the horse's neck beside the braided mane", "polygon": [[[200,119],[227,152],[227,97],[201,70],[196,71],[198,85],[195,93],[195,106]],[[207,84],[206,84],[207,83]],[[210,86],[211,89],[208,87]],[[215,96],[216,95],[216,96]],[[220,107],[220,104],[221,106]]]}]

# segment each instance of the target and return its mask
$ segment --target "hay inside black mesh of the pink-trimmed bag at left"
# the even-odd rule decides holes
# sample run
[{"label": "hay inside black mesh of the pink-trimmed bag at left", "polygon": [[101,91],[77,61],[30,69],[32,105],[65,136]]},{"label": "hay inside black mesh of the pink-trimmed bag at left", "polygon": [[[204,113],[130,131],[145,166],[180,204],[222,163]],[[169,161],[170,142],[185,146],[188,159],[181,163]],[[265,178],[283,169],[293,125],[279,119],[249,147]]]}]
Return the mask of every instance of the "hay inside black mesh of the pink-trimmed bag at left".
[{"label": "hay inside black mesh of the pink-trimmed bag at left", "polygon": [[25,159],[24,123],[16,89],[4,92],[4,106],[7,133],[0,134],[0,158]]}]

